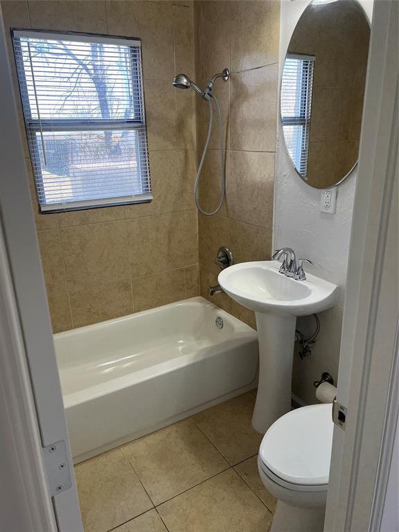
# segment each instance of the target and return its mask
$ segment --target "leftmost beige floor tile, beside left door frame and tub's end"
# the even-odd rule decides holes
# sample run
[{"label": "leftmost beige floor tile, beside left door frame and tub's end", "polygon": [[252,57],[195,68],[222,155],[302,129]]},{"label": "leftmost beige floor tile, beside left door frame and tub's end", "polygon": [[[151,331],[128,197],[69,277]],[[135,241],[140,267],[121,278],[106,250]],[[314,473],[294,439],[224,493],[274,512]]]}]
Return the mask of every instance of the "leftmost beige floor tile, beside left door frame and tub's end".
[{"label": "leftmost beige floor tile, beside left door frame and tub's end", "polygon": [[100,454],[75,468],[85,532],[106,532],[152,508],[121,449]]}]

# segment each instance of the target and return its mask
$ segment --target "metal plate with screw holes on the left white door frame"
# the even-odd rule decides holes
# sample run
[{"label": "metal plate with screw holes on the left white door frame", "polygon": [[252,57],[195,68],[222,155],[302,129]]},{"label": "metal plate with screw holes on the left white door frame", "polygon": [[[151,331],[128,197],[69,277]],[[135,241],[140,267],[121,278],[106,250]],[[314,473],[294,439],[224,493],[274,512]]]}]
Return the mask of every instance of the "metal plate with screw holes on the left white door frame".
[{"label": "metal plate with screw holes on the left white door frame", "polygon": [[57,441],[43,447],[43,457],[51,497],[69,490],[72,480],[66,443]]}]

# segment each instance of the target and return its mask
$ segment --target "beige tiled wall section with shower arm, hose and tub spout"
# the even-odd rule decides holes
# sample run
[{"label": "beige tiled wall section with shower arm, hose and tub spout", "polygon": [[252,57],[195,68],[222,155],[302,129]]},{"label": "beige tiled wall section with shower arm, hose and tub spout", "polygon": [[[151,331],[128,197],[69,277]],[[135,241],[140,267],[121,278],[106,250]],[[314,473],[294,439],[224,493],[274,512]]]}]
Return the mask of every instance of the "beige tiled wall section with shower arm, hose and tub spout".
[{"label": "beige tiled wall section with shower arm, hose and tub spout", "polygon": [[[229,82],[215,85],[227,143],[227,199],[218,215],[199,215],[201,293],[208,297],[220,272],[214,264],[220,246],[229,246],[237,263],[265,260],[272,249],[280,2],[196,1],[194,14],[197,79],[203,84],[225,67],[231,71]],[[199,152],[207,123],[207,107],[198,100]],[[220,193],[215,132],[210,145],[200,188],[206,210],[215,209]],[[255,326],[254,314],[229,296],[209,299]]]}]

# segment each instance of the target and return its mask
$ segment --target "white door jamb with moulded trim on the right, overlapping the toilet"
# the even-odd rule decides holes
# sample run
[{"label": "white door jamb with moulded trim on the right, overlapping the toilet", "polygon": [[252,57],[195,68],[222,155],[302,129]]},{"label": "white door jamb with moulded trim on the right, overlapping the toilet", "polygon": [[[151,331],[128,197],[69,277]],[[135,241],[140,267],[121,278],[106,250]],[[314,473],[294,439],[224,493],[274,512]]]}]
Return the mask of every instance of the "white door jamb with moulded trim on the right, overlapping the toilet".
[{"label": "white door jamb with moulded trim on the right, overlapping the toilet", "polygon": [[380,530],[398,419],[396,0],[374,4],[362,124],[326,532]]}]

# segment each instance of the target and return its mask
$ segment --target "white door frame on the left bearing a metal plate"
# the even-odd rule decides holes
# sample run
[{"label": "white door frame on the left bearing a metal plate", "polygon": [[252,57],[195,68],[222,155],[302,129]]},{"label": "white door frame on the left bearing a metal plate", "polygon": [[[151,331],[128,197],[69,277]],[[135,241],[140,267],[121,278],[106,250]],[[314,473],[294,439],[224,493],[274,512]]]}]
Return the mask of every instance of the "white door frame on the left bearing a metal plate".
[{"label": "white door frame on the left bearing a metal plate", "polygon": [[0,527],[82,532],[1,13],[0,79]]}]

